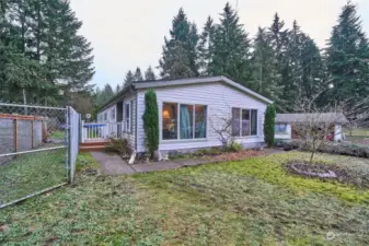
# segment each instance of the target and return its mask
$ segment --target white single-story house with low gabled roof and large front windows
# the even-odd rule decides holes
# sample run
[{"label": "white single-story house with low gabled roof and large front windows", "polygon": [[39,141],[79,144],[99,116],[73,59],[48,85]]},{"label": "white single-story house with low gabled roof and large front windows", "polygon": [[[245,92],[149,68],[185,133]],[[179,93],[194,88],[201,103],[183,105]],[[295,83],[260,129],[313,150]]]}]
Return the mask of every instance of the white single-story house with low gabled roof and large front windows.
[{"label": "white single-story house with low gabled roof and large front windows", "polygon": [[[231,134],[244,148],[264,144],[264,114],[273,102],[226,77],[134,82],[106,103],[97,122],[122,122],[119,137],[146,152],[145,93],[152,89],[159,108],[159,151],[220,147],[217,131],[231,120]],[[122,131],[122,132],[120,132]]]}]

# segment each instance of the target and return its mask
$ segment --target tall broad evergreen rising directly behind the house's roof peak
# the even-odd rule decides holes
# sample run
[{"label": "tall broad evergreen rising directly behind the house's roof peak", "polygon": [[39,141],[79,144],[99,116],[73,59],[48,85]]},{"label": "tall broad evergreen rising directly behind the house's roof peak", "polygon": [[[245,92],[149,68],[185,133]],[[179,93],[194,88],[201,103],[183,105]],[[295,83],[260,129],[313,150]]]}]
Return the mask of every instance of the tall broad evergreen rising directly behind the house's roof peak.
[{"label": "tall broad evergreen rising directly behind the house's roof peak", "polygon": [[229,3],[221,13],[212,47],[211,74],[226,75],[243,84],[250,80],[250,40],[238,13]]}]

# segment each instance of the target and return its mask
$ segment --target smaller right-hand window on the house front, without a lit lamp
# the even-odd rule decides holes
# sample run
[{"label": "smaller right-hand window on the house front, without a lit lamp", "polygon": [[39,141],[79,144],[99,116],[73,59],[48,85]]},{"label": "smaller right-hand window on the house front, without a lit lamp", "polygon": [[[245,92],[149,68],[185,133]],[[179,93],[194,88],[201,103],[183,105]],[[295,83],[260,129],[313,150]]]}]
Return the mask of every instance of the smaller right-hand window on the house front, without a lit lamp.
[{"label": "smaller right-hand window on the house front, without a lit lamp", "polygon": [[232,108],[232,136],[257,136],[257,110]]}]

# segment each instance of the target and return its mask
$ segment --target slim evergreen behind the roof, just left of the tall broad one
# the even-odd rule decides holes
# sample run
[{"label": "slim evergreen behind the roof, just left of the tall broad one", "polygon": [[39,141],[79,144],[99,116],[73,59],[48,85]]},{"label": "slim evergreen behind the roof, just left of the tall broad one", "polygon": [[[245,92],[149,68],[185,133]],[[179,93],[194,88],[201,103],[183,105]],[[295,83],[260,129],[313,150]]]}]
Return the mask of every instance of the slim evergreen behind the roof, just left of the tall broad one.
[{"label": "slim evergreen behind the roof, just left of the tall broad one", "polygon": [[214,34],[216,26],[214,24],[214,20],[208,16],[206,24],[204,26],[204,31],[200,35],[200,42],[198,46],[198,58],[199,58],[199,70],[201,75],[211,75],[209,70],[209,63],[212,59],[212,49],[214,49]]}]

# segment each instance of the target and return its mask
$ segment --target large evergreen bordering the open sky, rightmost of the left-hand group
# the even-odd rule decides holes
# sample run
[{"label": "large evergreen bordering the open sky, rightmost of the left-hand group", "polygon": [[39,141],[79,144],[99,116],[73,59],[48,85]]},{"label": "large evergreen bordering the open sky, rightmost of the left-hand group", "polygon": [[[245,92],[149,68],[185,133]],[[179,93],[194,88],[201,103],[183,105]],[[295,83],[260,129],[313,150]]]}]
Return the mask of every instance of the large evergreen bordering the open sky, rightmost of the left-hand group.
[{"label": "large evergreen bordering the open sky, rightmost of the left-hand group", "polygon": [[[59,5],[54,0],[45,1],[50,5],[45,13],[45,22],[51,28],[45,35],[47,45],[44,50],[49,65],[49,80],[59,83],[66,95],[70,92],[90,92],[92,86],[88,83],[94,75],[93,56],[91,43],[78,34],[82,22],[77,20],[69,1],[59,0]],[[55,13],[59,13],[59,16],[55,16]],[[54,70],[55,74],[51,72]]]}]

